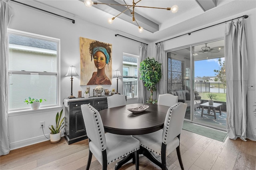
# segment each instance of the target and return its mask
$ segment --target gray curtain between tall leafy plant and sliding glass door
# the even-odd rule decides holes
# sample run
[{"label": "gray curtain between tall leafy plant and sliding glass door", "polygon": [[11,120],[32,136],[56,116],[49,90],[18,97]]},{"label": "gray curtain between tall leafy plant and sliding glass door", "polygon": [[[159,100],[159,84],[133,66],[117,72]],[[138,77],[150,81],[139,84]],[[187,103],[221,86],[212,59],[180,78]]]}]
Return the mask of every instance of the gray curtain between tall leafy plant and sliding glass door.
[{"label": "gray curtain between tall leafy plant and sliding glass door", "polygon": [[[164,51],[163,51],[162,42],[157,43],[156,44],[156,61],[158,61],[159,63],[162,63],[161,65],[162,73],[163,73],[163,55],[164,55]],[[156,99],[158,99],[158,95],[164,94],[163,87],[164,87],[164,77],[162,75],[162,78],[156,85]]]}]

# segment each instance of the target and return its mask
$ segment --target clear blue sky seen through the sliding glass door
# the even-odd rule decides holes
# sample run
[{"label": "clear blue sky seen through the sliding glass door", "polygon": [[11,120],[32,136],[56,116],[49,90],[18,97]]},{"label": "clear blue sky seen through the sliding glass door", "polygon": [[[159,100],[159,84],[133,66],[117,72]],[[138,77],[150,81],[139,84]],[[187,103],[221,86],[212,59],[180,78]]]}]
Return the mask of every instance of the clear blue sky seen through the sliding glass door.
[{"label": "clear blue sky seen through the sliding glass door", "polygon": [[[219,58],[195,61],[195,77],[215,77],[216,73],[214,69],[219,70],[221,68],[218,59]],[[224,57],[221,59],[224,61]]]}]

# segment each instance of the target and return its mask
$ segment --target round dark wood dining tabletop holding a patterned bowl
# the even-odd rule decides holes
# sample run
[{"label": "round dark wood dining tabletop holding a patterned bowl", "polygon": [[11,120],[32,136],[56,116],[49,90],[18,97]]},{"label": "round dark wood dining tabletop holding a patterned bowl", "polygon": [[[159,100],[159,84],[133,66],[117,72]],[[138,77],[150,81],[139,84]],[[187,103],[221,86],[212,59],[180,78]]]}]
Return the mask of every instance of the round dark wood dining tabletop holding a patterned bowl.
[{"label": "round dark wood dining tabletop holding a patterned bowl", "polygon": [[[141,113],[132,113],[127,109],[148,105]],[[155,132],[164,127],[166,113],[170,107],[153,104],[129,104],[100,111],[106,132],[122,135],[138,135]]]}]

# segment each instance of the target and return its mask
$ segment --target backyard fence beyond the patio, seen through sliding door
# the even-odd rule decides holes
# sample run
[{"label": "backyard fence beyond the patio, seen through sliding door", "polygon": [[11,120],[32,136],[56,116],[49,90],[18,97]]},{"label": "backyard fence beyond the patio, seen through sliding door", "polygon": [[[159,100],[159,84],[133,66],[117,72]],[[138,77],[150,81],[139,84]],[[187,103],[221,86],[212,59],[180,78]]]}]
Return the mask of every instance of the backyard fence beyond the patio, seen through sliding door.
[{"label": "backyard fence beyond the patio, seen through sliding door", "polygon": [[195,89],[199,93],[226,93],[226,86],[220,82],[195,82]]}]

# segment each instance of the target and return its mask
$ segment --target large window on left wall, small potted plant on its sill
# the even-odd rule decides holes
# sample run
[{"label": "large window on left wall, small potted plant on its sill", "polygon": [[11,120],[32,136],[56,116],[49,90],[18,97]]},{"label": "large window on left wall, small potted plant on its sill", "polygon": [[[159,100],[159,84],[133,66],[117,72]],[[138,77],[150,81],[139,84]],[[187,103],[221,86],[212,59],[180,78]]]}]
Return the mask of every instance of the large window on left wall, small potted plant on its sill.
[{"label": "large window on left wall, small potted plant on its sill", "polygon": [[27,97],[59,105],[60,40],[9,29],[8,42],[9,111],[30,108]]}]

